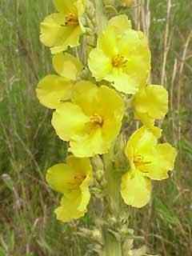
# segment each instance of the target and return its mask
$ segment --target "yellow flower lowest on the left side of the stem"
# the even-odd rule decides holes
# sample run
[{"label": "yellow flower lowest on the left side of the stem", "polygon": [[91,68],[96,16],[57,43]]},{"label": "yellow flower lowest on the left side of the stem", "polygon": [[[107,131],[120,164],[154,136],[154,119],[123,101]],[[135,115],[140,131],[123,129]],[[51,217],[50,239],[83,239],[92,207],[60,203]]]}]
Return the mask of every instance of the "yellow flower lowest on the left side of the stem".
[{"label": "yellow flower lowest on the left side of the stem", "polygon": [[58,220],[70,222],[86,213],[90,201],[89,186],[92,167],[89,158],[66,158],[66,163],[50,167],[46,181],[50,187],[62,193],[61,205],[55,210]]}]

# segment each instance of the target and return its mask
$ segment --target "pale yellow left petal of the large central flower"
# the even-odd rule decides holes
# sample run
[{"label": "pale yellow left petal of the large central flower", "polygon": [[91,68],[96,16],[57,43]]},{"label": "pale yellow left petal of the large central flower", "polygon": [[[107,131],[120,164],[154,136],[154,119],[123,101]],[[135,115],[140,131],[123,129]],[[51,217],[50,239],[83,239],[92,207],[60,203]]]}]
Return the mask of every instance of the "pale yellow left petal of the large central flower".
[{"label": "pale yellow left petal of the large central flower", "polygon": [[66,102],[54,111],[52,125],[59,138],[64,141],[70,141],[83,136],[85,124],[89,120],[79,106]]}]

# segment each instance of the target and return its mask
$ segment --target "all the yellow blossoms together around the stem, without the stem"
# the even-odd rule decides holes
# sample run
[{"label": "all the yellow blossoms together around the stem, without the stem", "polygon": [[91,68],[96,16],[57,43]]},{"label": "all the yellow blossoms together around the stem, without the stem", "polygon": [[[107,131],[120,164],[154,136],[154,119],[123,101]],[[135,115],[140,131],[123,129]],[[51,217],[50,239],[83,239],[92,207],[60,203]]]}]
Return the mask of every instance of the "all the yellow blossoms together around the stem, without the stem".
[{"label": "all the yellow blossoms together around the stem, without the stem", "polygon": [[158,143],[162,131],[155,121],[168,111],[168,93],[163,86],[148,84],[147,38],[132,28],[125,14],[111,18],[90,50],[87,62],[92,78],[90,74],[85,78],[82,70],[88,70],[86,64],[71,53],[86,34],[82,22],[86,1],[54,3],[58,13],[42,22],[40,38],[54,54],[57,74],[49,74],[38,83],[37,95],[42,105],[54,110],[52,125],[58,137],[69,142],[66,162],[51,167],[46,174],[51,188],[62,194],[55,210],[57,218],[69,222],[86,213],[94,176],[90,158],[109,152],[121,132],[128,97],[134,118],[142,127],[125,146],[130,168],[122,174],[121,194],[127,205],[145,206],[150,201],[151,180],[168,178],[176,158],[174,147]]}]

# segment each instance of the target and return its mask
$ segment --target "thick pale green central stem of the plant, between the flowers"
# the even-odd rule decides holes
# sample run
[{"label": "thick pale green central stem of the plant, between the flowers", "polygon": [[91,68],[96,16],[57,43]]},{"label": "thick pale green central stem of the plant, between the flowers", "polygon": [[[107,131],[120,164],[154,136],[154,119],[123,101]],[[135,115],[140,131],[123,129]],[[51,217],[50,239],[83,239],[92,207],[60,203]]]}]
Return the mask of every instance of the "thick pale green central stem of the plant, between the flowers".
[{"label": "thick pale green central stem of the plant, between the flowers", "polygon": [[[103,1],[95,0],[97,33],[100,34],[105,29],[107,18],[104,11]],[[118,223],[120,214],[120,178],[114,171],[114,147],[109,154],[103,156],[106,176],[106,205],[104,206],[104,224],[102,225],[102,238],[104,245],[103,256],[122,256],[121,236],[111,225],[109,219],[114,219]]]}]

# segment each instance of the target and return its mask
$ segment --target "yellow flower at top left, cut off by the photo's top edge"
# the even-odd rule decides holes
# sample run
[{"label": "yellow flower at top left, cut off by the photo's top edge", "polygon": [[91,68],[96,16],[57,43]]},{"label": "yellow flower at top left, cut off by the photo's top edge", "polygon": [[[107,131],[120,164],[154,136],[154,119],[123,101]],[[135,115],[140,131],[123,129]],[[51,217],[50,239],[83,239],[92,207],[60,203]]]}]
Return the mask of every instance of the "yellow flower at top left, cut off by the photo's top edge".
[{"label": "yellow flower at top left, cut off by the photo's top edge", "polygon": [[50,14],[41,23],[40,40],[50,47],[52,54],[79,45],[84,32],[81,17],[85,10],[84,0],[54,0],[58,13]]}]

